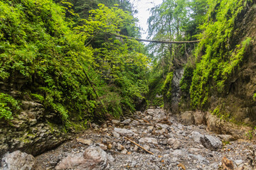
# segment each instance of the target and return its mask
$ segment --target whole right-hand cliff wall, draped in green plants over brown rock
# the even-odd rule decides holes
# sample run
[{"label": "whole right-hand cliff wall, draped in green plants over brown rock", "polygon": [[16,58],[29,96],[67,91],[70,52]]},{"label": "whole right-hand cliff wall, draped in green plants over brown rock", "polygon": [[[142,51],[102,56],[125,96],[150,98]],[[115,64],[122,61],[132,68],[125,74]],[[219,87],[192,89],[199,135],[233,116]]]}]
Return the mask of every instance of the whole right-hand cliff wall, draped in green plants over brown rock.
[{"label": "whole right-hand cliff wall, draped in green plants over brown rock", "polygon": [[[172,80],[172,97],[165,100],[165,106],[181,115],[191,109],[201,110],[203,122],[210,130],[234,135],[235,131],[231,132],[225,125],[256,125],[256,4],[242,1],[225,8],[221,3],[209,15],[196,64],[186,64],[193,74],[185,69],[181,74],[183,80]],[[222,24],[220,18],[229,26],[218,26]],[[178,84],[178,81],[183,82]],[[213,119],[219,120],[218,125],[213,125]],[[238,137],[245,137],[245,133]]]}]

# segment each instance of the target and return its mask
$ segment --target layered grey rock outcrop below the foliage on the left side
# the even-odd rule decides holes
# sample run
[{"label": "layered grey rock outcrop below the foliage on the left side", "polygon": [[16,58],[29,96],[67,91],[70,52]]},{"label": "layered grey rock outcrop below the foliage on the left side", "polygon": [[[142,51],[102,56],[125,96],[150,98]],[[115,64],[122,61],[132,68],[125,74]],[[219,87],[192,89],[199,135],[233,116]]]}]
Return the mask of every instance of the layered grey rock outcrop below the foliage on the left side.
[{"label": "layered grey rock outcrop below the foliage on the left side", "polygon": [[16,149],[37,155],[68,139],[58,113],[46,111],[41,103],[29,96],[21,96],[27,89],[26,82],[17,74],[0,82],[1,92],[22,98],[20,113],[14,115],[9,123],[0,121],[0,156]]}]

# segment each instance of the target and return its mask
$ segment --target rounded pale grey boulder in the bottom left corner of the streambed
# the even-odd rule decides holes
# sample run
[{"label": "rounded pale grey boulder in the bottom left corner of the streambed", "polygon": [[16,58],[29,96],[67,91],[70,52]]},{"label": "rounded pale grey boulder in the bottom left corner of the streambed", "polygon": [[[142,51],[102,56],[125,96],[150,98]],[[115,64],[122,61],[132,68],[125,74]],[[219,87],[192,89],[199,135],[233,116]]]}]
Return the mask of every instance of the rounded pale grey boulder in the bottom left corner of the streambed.
[{"label": "rounded pale grey boulder in the bottom left corner of the streambed", "polygon": [[1,170],[32,170],[35,166],[35,158],[31,154],[15,151],[5,154],[1,159]]}]

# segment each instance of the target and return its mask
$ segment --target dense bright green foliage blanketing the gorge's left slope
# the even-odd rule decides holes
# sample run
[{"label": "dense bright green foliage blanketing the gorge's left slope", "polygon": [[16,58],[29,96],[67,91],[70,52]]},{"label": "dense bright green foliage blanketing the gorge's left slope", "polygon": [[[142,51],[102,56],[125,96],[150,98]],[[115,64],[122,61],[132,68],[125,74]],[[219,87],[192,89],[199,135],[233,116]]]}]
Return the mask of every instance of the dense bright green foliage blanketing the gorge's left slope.
[{"label": "dense bright green foliage blanketing the gorge's left slope", "polygon": [[[52,0],[0,1],[0,79],[22,77],[23,92],[30,91],[46,111],[57,111],[67,126],[106,113],[118,117],[124,110],[134,111],[134,101],[148,90],[149,60],[139,52],[142,44],[109,35],[105,41],[104,35],[93,47],[91,40],[99,32],[117,33],[128,25],[135,31],[136,20],[117,7],[100,4],[87,19],[79,21],[73,13],[75,23],[65,18],[65,10],[73,8],[65,2],[66,8]],[[11,110],[6,111],[5,117],[11,118]]]}]

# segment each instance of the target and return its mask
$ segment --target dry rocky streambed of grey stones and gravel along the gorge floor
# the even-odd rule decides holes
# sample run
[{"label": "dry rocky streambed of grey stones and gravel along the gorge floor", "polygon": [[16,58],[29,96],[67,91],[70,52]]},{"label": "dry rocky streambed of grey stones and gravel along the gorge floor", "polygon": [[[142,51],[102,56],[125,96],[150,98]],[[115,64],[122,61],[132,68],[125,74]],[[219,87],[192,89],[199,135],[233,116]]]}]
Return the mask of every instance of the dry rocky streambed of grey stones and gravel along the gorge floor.
[{"label": "dry rocky streambed of grey stones and gravel along the gorge floor", "polygon": [[122,121],[92,124],[75,140],[36,158],[6,154],[1,169],[254,169],[256,145],[233,140],[151,108]]}]

